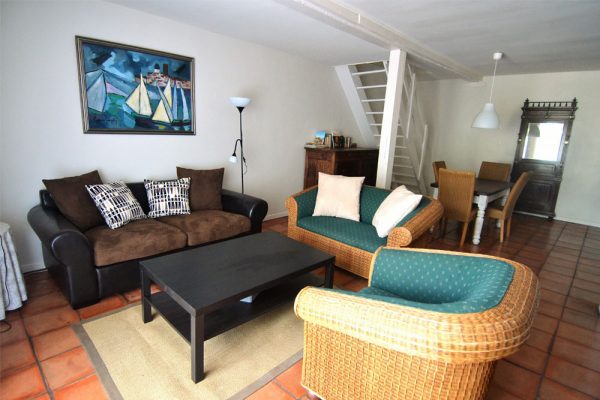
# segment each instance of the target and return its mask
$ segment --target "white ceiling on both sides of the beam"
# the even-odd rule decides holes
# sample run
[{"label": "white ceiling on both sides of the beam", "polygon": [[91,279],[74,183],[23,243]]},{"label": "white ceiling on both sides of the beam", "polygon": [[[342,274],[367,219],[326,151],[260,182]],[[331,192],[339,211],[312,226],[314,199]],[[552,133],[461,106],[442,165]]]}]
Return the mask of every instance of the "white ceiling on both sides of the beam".
[{"label": "white ceiling on both sides of the beam", "polygon": [[[298,11],[293,0],[109,0],[328,65],[388,49]],[[600,0],[338,1],[483,75],[600,70]],[[294,5],[294,8],[289,7]]]}]

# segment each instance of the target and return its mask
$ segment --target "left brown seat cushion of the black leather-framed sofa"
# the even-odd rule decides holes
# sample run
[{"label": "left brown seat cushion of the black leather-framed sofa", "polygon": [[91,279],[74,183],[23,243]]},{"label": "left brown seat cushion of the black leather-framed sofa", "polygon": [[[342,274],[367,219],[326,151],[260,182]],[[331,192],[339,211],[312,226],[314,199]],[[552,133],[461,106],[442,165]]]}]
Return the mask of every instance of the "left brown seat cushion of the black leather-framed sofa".
[{"label": "left brown seat cushion of the black leather-framed sofa", "polygon": [[85,236],[98,267],[180,249],[187,241],[179,229],[151,219],[133,221],[119,229],[97,226]]}]

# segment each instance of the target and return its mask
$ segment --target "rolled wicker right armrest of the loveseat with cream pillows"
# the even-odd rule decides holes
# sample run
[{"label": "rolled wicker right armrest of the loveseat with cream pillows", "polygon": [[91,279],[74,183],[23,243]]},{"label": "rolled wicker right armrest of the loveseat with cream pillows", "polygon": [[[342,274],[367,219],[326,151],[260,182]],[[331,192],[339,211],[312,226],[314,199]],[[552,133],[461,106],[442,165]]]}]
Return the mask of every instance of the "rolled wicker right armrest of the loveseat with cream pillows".
[{"label": "rolled wicker right armrest of the loveseat with cream pillows", "polygon": [[387,246],[406,247],[432,226],[438,223],[444,214],[442,203],[433,198],[431,202],[402,226],[396,226],[388,235]]}]

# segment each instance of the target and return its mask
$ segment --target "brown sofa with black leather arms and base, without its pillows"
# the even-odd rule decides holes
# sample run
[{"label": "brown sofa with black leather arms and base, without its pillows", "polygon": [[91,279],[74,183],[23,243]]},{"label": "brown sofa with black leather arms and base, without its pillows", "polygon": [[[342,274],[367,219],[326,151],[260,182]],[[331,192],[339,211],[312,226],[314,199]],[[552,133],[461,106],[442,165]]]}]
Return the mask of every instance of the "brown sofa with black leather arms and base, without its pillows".
[{"label": "brown sofa with black leather arms and base, without its pillows", "polygon": [[[127,186],[149,211],[143,182]],[[40,238],[44,264],[75,308],[140,286],[138,262],[242,235],[258,233],[267,214],[259,198],[222,190],[223,210],[193,211],[132,221],[118,229],[106,224],[80,229],[58,209],[47,190],[27,216]]]}]

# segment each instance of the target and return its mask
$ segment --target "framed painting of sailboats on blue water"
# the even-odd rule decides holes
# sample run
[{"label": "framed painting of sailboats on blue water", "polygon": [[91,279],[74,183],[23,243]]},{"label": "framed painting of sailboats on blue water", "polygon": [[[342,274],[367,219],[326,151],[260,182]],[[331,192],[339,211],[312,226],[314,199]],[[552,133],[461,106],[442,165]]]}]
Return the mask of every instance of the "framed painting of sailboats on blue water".
[{"label": "framed painting of sailboats on blue water", "polygon": [[194,59],[76,36],[84,133],[193,135]]}]

